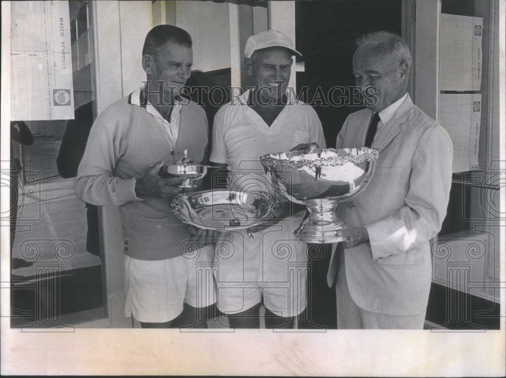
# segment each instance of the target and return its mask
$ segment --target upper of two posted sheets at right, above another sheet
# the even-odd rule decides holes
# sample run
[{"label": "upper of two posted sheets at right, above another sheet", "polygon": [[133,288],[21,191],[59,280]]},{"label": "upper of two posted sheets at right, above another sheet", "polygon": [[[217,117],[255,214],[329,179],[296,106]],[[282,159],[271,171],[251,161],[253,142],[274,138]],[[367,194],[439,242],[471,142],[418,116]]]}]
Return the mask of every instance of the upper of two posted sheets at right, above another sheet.
[{"label": "upper of two posted sheets at right, above another sheet", "polygon": [[441,14],[440,91],[480,90],[482,31],[482,17]]}]

